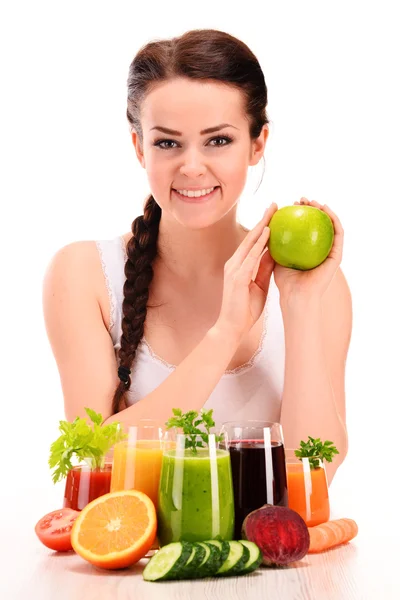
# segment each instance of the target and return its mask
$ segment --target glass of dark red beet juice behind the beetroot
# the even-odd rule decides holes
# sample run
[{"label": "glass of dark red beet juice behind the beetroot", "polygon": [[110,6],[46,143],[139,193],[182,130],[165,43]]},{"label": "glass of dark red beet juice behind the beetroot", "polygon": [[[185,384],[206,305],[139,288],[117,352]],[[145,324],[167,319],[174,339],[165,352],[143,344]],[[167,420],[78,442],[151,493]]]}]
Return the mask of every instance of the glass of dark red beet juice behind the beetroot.
[{"label": "glass of dark red beet juice behind the beetroot", "polygon": [[282,427],[269,421],[227,421],[221,434],[231,457],[235,503],[234,539],[242,539],[242,524],[264,504],[288,506]]}]

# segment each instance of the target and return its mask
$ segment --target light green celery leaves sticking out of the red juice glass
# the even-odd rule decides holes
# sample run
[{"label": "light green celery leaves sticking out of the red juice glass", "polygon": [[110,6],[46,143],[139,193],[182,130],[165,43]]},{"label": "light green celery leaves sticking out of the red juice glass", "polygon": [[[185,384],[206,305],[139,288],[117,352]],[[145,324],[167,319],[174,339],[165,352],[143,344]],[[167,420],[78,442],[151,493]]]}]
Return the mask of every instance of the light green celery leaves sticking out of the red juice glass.
[{"label": "light green celery leaves sticking out of the red juice glass", "polygon": [[73,468],[71,458],[75,455],[78,459],[91,458],[94,468],[101,466],[102,460],[114,444],[126,439],[121,424],[118,421],[102,425],[103,417],[90,408],[85,408],[86,414],[93,425],[87,423],[86,418],[69,421],[60,421],[61,435],[50,446],[49,467],[53,483],[66,477]]}]

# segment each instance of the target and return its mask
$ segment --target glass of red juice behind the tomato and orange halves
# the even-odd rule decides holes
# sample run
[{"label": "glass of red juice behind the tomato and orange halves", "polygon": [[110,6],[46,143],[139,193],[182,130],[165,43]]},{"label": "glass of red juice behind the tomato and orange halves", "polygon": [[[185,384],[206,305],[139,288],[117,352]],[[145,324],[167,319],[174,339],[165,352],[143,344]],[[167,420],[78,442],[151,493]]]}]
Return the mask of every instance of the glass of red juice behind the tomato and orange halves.
[{"label": "glass of red juice behind the tomato and orange halves", "polygon": [[95,461],[88,457],[74,466],[67,474],[64,491],[64,508],[82,510],[89,502],[108,494],[111,482],[111,462]]}]

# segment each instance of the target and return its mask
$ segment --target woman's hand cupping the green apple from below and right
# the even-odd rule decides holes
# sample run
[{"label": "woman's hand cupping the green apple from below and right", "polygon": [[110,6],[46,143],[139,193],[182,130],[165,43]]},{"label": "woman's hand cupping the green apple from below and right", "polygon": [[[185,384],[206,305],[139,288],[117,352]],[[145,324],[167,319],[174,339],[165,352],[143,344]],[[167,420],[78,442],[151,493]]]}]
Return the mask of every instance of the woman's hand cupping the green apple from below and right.
[{"label": "woman's hand cupping the green apple from below and right", "polygon": [[323,210],[332,220],[334,240],[328,257],[315,269],[298,271],[275,265],[274,279],[279,288],[281,305],[282,303],[292,303],[298,297],[321,298],[339,268],[343,253],[344,232],[335,213],[326,204],[322,206],[315,200],[310,202],[307,198],[302,198],[300,202],[294,204],[306,204]]}]

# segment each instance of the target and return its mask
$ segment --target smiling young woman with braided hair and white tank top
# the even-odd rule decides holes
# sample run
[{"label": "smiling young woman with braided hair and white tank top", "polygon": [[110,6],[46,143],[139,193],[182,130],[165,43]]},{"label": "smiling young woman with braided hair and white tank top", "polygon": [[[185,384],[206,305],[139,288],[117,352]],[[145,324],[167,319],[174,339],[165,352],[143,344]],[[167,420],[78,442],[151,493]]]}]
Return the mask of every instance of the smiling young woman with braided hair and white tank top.
[{"label": "smiling young woman with braided hair and white tank top", "polygon": [[[127,117],[151,195],[132,231],[75,242],[53,257],[44,314],[68,419],[165,422],[172,408],[279,421],[287,447],[334,441],[347,452],[345,362],[351,296],[343,229],[311,271],[274,263],[265,211],[236,220],[249,166],[268,138],[261,67],[217,30],[152,42],[134,58]],[[295,202],[298,204],[298,202]]]}]

